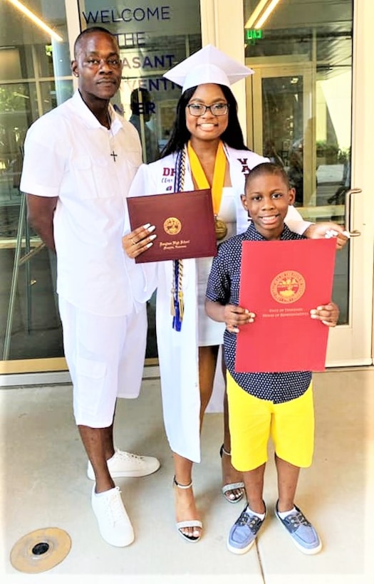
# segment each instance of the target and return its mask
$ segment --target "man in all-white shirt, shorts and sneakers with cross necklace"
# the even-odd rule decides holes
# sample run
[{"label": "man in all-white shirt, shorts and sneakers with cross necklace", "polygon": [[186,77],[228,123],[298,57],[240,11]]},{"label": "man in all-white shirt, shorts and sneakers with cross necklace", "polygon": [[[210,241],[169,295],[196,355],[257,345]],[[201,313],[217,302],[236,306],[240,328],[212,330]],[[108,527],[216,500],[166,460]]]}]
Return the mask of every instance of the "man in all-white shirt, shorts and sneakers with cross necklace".
[{"label": "man in all-white shirt, shorts and sneakers with cross necklace", "polygon": [[122,72],[115,37],[101,27],[80,33],[71,69],[76,93],[28,130],[21,190],[31,226],[56,251],[73,412],[95,481],[93,511],[105,541],[128,546],[133,527],[113,479],[160,467],[154,457],[113,444],[117,397],[137,397],[145,358],[145,298],[133,293],[142,269],[121,246],[141,146],[133,125],[110,105]]}]

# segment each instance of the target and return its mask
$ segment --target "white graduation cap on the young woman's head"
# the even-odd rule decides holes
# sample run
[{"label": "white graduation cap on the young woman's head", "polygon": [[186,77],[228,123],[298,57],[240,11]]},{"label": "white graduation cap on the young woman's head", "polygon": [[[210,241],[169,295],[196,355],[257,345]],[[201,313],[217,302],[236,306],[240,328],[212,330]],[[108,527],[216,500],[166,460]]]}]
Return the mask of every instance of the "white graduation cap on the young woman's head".
[{"label": "white graduation cap on the young woman's head", "polygon": [[215,46],[207,45],[164,73],[163,77],[182,85],[183,93],[202,83],[219,83],[229,87],[252,73],[254,71],[249,67],[234,61]]}]

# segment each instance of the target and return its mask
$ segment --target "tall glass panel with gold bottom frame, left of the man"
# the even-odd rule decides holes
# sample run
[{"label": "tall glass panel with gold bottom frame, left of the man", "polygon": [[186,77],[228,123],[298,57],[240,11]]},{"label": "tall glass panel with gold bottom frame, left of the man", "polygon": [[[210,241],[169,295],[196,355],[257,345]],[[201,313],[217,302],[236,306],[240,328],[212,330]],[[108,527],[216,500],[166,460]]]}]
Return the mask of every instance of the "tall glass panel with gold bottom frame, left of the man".
[{"label": "tall glass panel with gold bottom frame, left of the man", "polygon": [[[73,91],[65,3],[0,6],[0,375],[66,370],[53,254],[26,221],[19,190],[31,123]],[[35,365],[38,362],[38,365]]]}]

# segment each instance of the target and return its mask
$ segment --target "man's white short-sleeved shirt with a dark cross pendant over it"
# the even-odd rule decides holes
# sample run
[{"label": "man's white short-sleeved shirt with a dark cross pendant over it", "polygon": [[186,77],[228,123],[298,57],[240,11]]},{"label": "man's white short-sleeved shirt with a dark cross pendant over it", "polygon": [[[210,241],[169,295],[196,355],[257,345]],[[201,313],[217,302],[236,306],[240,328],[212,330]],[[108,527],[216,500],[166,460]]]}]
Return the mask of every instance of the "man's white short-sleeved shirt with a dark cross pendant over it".
[{"label": "man's white short-sleeved shirt with a dark cross pendant over it", "polygon": [[121,243],[141,145],[133,125],[111,107],[110,116],[107,130],[78,91],[41,116],[26,135],[20,187],[58,197],[53,219],[58,294],[103,316],[133,310],[132,282],[142,278]]}]

